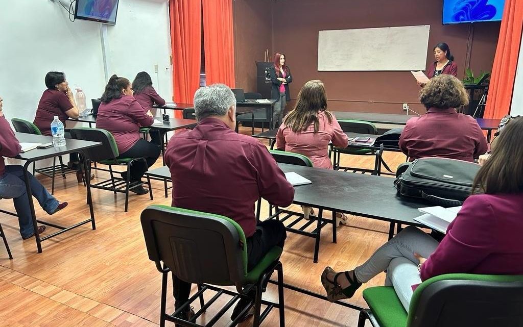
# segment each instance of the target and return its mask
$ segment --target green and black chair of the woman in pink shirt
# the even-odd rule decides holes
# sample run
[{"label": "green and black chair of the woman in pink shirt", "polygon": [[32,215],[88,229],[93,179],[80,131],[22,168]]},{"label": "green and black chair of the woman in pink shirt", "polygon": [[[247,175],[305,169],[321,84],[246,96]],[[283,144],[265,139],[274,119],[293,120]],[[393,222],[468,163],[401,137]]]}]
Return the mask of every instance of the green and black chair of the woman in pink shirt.
[{"label": "green and black chair of the woman in pink shirt", "polygon": [[[287,151],[280,151],[280,150],[269,150],[272,157],[276,160],[276,162],[279,162],[280,164],[289,164],[289,165],[296,165],[296,166],[303,166],[303,167],[312,167],[312,161],[304,156],[297,153],[287,152]],[[260,216],[260,208],[261,208],[261,198],[258,198],[258,204],[256,206],[256,217],[259,220]],[[333,219],[324,219],[322,217],[323,215],[323,209],[319,208],[317,209],[317,215],[311,215],[313,219],[311,220],[305,220],[303,217],[303,212],[295,212],[288,209],[282,209],[279,207],[275,208],[275,213],[272,213],[273,206],[269,204],[269,217],[267,219],[277,219],[285,224],[285,229],[293,232],[298,233],[303,236],[312,237],[315,239],[314,244],[314,254],[313,254],[313,262],[316,263],[318,261],[318,255],[320,252],[320,237],[321,237],[321,230],[323,227],[325,227],[327,224],[332,224],[332,241],[333,243],[336,243],[336,213],[333,212]],[[280,215],[284,215],[283,217],[280,217]],[[314,222],[316,222],[316,228],[314,228]],[[310,227],[310,228],[309,228]],[[311,231],[312,229],[312,231]]]}]

